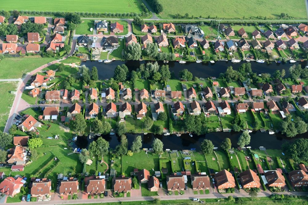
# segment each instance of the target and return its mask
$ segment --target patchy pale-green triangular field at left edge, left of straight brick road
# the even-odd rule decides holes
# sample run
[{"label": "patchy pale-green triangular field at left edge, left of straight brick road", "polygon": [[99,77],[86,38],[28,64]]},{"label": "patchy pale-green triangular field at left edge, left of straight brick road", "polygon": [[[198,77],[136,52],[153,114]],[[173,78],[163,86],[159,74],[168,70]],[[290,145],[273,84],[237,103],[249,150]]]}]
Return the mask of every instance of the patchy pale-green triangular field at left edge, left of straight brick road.
[{"label": "patchy pale-green triangular field at left edge, left of straight brick road", "polygon": [[15,95],[10,94],[10,91],[15,91],[17,82],[0,82],[1,106],[0,108],[0,132],[3,132],[7,117],[10,113]]}]

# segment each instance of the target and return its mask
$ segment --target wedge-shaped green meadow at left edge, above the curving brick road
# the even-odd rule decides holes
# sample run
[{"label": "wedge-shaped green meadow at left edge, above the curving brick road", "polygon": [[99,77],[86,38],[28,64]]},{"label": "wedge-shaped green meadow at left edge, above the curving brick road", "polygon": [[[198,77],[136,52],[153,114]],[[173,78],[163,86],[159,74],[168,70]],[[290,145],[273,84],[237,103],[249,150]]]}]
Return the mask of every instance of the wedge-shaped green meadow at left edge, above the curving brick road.
[{"label": "wedge-shaped green meadow at left edge, above the curving brick road", "polygon": [[54,60],[55,58],[41,57],[4,58],[0,61],[0,79],[22,78],[24,74]]}]

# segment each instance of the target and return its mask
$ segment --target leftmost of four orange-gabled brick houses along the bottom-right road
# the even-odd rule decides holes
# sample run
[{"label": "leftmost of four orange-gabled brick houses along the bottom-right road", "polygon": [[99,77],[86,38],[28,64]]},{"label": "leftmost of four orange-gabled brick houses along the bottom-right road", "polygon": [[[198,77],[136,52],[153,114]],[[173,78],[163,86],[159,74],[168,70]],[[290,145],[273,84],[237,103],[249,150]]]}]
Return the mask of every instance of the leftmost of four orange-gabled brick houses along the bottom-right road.
[{"label": "leftmost of four orange-gabled brick houses along the bottom-right road", "polygon": [[235,180],[232,174],[227,170],[222,170],[214,175],[217,189],[227,189],[235,187]]}]

